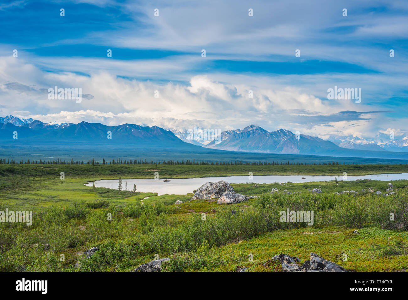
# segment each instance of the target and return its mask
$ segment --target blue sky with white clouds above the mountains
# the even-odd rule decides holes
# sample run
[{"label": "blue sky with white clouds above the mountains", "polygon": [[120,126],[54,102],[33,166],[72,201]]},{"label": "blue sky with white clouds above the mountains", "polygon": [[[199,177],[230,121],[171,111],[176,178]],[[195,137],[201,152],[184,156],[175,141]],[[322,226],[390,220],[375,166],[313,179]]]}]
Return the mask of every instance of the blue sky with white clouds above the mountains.
[{"label": "blue sky with white clouds above the mountains", "polygon": [[[2,1],[0,20],[2,116],[408,133],[406,1],[21,0]],[[92,96],[51,102],[55,85]],[[361,103],[329,100],[335,85],[361,88]]]}]

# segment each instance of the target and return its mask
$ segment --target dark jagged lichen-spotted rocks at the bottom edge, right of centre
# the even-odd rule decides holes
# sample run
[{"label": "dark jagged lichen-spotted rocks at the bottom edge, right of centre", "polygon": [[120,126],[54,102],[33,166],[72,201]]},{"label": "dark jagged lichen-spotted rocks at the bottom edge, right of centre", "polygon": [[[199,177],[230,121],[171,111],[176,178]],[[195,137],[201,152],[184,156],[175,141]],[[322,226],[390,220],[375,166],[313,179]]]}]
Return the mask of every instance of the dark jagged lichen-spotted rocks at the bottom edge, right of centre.
[{"label": "dark jagged lichen-spotted rocks at the bottom edge, right of centre", "polygon": [[306,260],[302,265],[297,264],[300,262],[299,258],[287,254],[275,255],[272,260],[279,261],[284,272],[347,272],[342,266],[315,253],[310,253],[310,260]]}]

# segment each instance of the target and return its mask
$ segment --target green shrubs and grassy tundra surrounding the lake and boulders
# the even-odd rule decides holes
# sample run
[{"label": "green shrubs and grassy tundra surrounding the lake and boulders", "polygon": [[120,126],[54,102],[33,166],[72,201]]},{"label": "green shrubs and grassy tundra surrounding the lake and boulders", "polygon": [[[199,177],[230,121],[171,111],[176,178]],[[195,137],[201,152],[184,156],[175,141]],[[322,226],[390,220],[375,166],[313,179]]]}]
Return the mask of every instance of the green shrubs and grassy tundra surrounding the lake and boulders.
[{"label": "green shrubs and grassy tundra surrounding the lake and boulders", "polygon": [[[296,169],[298,175],[407,171],[398,165],[377,169],[349,165],[340,170],[337,166],[214,167],[169,165],[160,166],[159,172],[161,177],[183,178],[290,174]],[[353,271],[408,268],[407,180],[390,181],[396,195],[388,197],[362,191],[385,193],[388,181],[233,184],[237,193],[259,198],[223,206],[215,201],[188,202],[193,194],[157,196],[134,192],[131,186],[132,191],[84,186],[119,177],[124,185],[125,178],[151,178],[155,170],[151,165],[0,165],[0,211],[34,210],[31,226],[0,223],[0,271],[131,271],[155,259],[155,254],[171,257],[163,263],[164,271],[242,267],[282,271],[271,261],[273,255],[286,253],[304,261],[310,252]],[[60,172],[65,173],[64,180]],[[271,194],[272,188],[280,191]],[[313,188],[321,188],[322,193],[308,192]],[[334,195],[343,190],[359,195]],[[184,203],[175,205],[177,200]],[[313,226],[280,222],[279,212],[287,208],[313,211]],[[82,253],[93,246],[100,250],[85,259]],[[78,261],[80,267],[75,268]]]}]

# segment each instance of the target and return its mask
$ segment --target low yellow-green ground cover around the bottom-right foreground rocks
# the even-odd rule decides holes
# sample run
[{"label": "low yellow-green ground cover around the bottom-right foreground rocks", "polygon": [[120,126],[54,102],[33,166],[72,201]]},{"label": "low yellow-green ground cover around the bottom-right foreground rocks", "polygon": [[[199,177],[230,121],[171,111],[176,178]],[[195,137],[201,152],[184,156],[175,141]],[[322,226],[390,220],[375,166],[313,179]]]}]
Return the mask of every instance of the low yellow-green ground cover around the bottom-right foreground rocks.
[{"label": "low yellow-green ground cover around the bottom-right foreground rocks", "polygon": [[[354,228],[339,227],[278,230],[221,247],[217,255],[225,264],[212,271],[237,271],[242,267],[248,267],[248,271],[282,271],[271,263],[271,257],[286,253],[299,257],[302,264],[310,260],[310,252],[350,271],[406,271],[408,234],[370,227],[358,234],[354,234]],[[249,254],[253,255],[252,262],[248,261]]]}]

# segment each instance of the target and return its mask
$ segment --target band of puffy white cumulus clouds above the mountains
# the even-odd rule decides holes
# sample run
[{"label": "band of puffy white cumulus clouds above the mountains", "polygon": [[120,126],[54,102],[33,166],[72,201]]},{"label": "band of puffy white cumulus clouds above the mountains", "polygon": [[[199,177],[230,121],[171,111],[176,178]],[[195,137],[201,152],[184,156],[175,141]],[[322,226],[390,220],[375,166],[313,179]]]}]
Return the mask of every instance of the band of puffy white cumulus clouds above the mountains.
[{"label": "band of puffy white cumulus clouds above the mountains", "polygon": [[[191,77],[188,83],[138,81],[95,72],[43,72],[13,58],[0,65],[2,115],[16,114],[43,122],[100,122],[107,125],[137,123],[164,128],[235,129],[255,123],[268,130],[287,128],[321,136],[366,126],[381,111],[366,110],[354,101],[328,101],[299,87],[270,87],[215,81],[211,75]],[[18,72],[20,70],[20,72]],[[22,71],[21,71],[22,70]],[[13,79],[8,81],[7,79]],[[55,85],[81,88],[83,100],[49,100]],[[253,97],[249,95],[252,90]],[[158,98],[155,98],[155,95]],[[372,107],[370,107],[372,108]],[[329,126],[327,126],[329,125]],[[369,128],[366,128],[369,130]],[[365,133],[367,134],[367,133]]]}]

